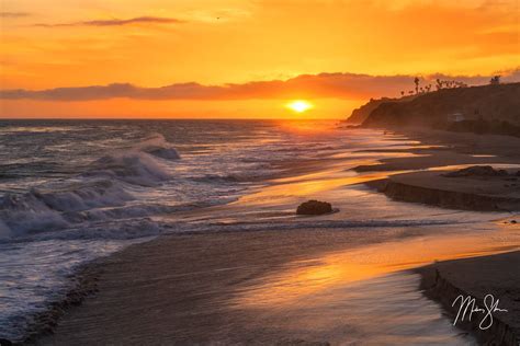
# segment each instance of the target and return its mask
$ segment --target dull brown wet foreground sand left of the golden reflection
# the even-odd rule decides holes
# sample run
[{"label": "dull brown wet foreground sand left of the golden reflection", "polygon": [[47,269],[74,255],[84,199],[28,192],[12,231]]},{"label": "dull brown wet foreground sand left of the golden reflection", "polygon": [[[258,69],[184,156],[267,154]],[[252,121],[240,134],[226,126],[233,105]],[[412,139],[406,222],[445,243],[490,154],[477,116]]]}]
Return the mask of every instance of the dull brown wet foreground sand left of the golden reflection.
[{"label": "dull brown wet foreground sand left of the golden reflection", "polygon": [[86,270],[98,292],[36,344],[287,342],[256,327],[255,314],[229,307],[240,285],[291,261],[355,245],[354,232],[320,230],[170,235],[134,245]]}]

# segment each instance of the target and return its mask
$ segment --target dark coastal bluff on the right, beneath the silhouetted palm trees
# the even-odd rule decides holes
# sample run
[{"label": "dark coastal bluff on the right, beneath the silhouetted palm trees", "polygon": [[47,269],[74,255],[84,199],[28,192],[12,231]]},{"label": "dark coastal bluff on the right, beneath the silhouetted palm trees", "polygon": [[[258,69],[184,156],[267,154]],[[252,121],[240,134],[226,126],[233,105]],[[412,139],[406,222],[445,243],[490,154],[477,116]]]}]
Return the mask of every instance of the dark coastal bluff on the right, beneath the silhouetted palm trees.
[{"label": "dark coastal bluff on the right, beneath the silhouetted palm trees", "polygon": [[371,101],[347,122],[354,120],[362,120],[362,127],[417,126],[520,136],[520,83],[441,89],[415,97]]}]

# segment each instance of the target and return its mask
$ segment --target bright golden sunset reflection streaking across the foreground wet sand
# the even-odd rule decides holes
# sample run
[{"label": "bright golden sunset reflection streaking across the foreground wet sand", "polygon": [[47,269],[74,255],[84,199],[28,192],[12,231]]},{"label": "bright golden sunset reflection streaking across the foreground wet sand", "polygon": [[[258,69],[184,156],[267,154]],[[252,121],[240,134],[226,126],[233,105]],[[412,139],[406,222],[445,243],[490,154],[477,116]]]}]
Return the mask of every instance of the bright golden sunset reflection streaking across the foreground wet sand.
[{"label": "bright golden sunset reflection streaking across the foreground wet sand", "polygon": [[495,226],[496,230],[404,239],[293,262],[286,269],[268,275],[241,290],[235,303],[241,308],[282,308],[331,288],[416,268],[434,261],[520,249],[520,227],[499,222]]}]

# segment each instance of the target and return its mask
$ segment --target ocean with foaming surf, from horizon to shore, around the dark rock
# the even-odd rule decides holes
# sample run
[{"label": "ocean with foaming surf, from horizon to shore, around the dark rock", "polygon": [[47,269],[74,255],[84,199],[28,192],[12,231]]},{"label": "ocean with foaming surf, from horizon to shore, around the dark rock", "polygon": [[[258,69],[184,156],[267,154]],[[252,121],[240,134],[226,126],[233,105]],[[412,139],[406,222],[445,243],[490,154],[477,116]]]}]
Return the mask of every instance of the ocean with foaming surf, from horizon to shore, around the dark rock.
[{"label": "ocean with foaming surf, from horizon to shore, around the dark rock", "polygon": [[[377,176],[351,170],[418,146],[335,122],[0,120],[0,337],[21,339],[82,264],[160,234],[383,228],[402,238],[489,219],[391,201],[359,184]],[[296,218],[307,196],[341,212]]]}]

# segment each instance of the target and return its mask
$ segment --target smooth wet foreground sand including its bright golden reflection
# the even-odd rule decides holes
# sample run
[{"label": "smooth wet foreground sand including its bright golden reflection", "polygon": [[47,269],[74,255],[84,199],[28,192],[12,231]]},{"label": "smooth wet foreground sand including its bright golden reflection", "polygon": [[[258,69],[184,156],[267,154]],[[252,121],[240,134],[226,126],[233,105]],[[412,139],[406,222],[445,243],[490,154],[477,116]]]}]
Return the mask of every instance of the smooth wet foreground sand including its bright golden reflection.
[{"label": "smooth wet foreground sand including its bright golden reflection", "polygon": [[[168,235],[131,246],[97,263],[93,270],[86,270],[84,279],[97,285],[97,292],[80,307],[69,308],[55,333],[37,338],[35,344],[336,345],[359,341],[366,335],[359,326],[353,330],[344,315],[350,310],[341,309],[355,300],[355,295],[368,292],[368,303],[357,309],[369,309],[372,318],[363,316],[361,311],[353,314],[368,322],[381,315],[376,309],[381,302],[372,304],[381,297],[371,297],[369,290],[374,284],[370,279],[405,273],[402,270],[434,258],[515,249],[511,241],[493,242],[474,234],[422,237],[420,230],[410,230],[396,241],[395,232],[375,229],[368,242],[357,240],[359,231]],[[507,238],[509,231],[504,229],[504,235],[499,232],[498,237]],[[423,230],[423,234],[431,234],[431,230]],[[396,284],[407,279],[399,275]],[[355,282],[368,282],[368,287],[352,288]],[[375,293],[392,295],[393,285],[383,285]],[[411,291],[419,295],[417,288],[418,281],[411,281]],[[418,299],[405,302],[412,304]],[[307,307],[309,302],[314,305]],[[433,309],[434,319],[441,318],[440,310],[429,309]],[[388,319],[402,319],[399,310],[387,312]],[[446,321],[440,322],[450,327]],[[364,326],[369,331],[374,328],[370,324]],[[421,343],[420,334],[403,336],[400,331],[389,330],[369,334],[374,337],[376,333],[383,333],[375,338],[380,344],[410,343],[410,337],[415,337],[411,344]],[[385,336],[392,333],[397,333],[394,342]],[[437,332],[432,326],[422,333],[434,337]]]}]

